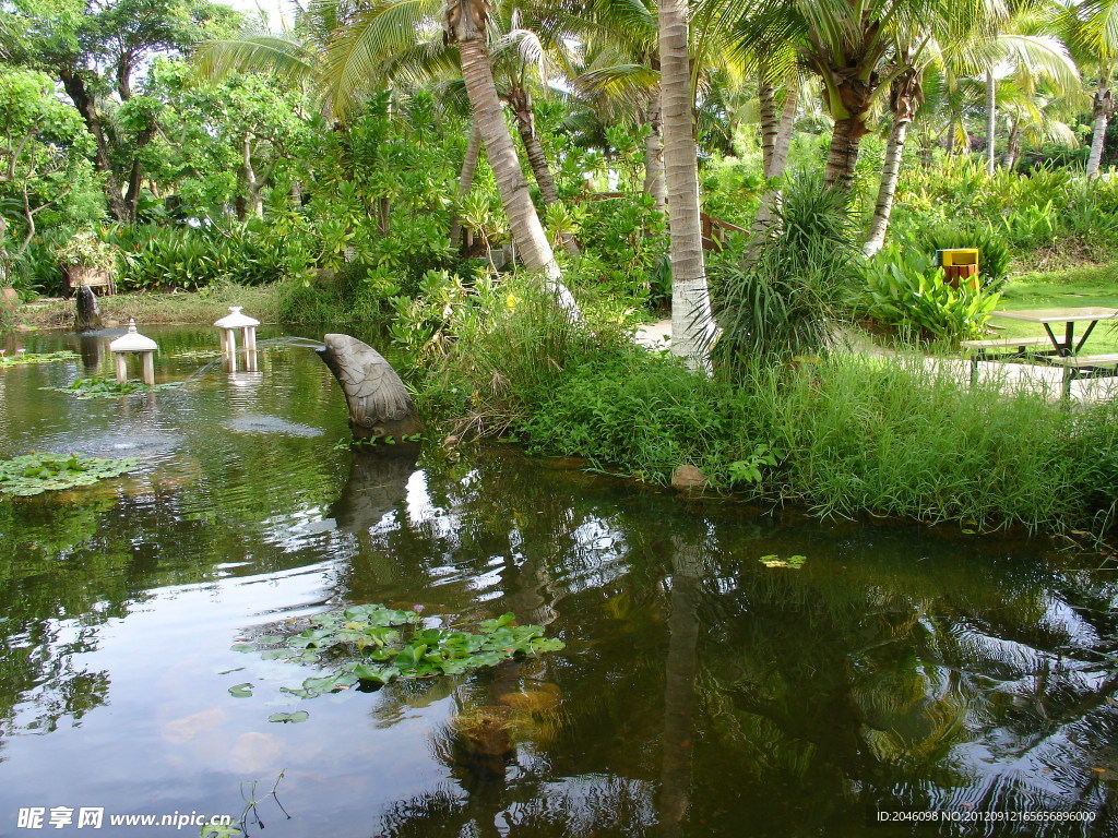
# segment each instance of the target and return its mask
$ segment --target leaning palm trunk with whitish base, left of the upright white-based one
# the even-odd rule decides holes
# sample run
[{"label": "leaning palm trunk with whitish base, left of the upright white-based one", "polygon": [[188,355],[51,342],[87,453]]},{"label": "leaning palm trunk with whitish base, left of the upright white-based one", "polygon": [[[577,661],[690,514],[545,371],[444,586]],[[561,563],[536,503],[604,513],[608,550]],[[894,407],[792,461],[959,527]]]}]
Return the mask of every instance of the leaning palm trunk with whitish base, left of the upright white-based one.
[{"label": "leaning palm trunk with whitish base, left of the upright white-based one", "polygon": [[540,217],[536,213],[536,206],[528,194],[528,182],[520,169],[520,160],[512,145],[512,135],[509,133],[501,101],[496,95],[489,53],[485,51],[476,31],[471,32],[471,37],[458,40],[458,53],[466,94],[470,96],[474,121],[485,144],[485,155],[493,169],[501,203],[504,204],[504,211],[509,216],[509,231],[512,234],[513,244],[520,251],[524,266],[543,275],[559,305],[571,318],[580,318],[578,304],[562,284],[562,272],[556,263],[555,254],[551,253],[551,245],[543,232]]}]

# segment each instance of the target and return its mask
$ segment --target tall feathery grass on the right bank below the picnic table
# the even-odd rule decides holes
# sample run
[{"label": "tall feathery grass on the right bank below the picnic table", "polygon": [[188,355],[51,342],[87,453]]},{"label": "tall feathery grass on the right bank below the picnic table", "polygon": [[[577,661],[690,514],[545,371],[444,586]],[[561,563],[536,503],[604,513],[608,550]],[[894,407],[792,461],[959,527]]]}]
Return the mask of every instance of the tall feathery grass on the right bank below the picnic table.
[{"label": "tall feathery grass on the right bank below the picnic table", "polygon": [[1090,526],[1118,497],[1115,464],[1099,457],[1116,441],[1112,406],[970,389],[916,359],[827,356],[750,384],[754,420],[788,453],[783,494],[817,514],[1059,528]]}]

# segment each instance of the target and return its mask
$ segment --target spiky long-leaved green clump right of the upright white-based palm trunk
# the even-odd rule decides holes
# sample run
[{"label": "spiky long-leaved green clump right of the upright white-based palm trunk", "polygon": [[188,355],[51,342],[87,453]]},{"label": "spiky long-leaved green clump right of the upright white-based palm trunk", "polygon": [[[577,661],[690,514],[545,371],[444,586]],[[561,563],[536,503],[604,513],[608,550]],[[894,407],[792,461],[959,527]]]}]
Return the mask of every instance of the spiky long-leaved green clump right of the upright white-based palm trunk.
[{"label": "spiky long-leaved green clump right of the upright white-based palm trunk", "polygon": [[714,277],[716,365],[740,374],[826,346],[852,297],[852,239],[845,193],[816,175],[792,182],[756,259],[724,265]]}]

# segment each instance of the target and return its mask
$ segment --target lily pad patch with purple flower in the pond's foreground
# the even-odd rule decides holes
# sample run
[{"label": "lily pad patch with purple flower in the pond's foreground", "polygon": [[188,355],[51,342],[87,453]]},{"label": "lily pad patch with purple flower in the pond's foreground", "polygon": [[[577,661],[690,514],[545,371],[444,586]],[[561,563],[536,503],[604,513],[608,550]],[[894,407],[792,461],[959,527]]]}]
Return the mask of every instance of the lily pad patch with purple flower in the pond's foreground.
[{"label": "lily pad patch with purple flower in the pond's foreground", "polygon": [[[259,651],[266,660],[326,664],[326,675],[305,678],[299,687],[281,687],[297,698],[314,698],[361,685],[376,688],[396,679],[459,675],[502,660],[563,648],[561,640],[543,637],[540,626],[518,626],[511,613],[483,620],[476,631],[423,628],[416,611],[381,604],[352,606],[291,620],[292,634],[264,635],[238,642],[234,651]],[[229,693],[252,695],[252,683]],[[300,722],[305,716],[275,714],[271,721]],[[294,714],[297,715],[297,714]],[[280,717],[284,716],[284,717]]]}]

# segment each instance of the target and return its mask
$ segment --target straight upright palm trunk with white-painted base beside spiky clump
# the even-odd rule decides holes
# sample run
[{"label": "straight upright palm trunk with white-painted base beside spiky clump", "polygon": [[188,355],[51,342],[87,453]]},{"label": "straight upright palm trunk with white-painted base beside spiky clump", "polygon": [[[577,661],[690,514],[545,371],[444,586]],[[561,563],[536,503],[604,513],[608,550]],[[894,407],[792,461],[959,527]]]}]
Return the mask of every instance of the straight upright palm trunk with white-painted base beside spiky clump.
[{"label": "straight upright palm trunk with white-painted base beside spiky clump", "polygon": [[664,173],[672,261],[672,353],[708,369],[714,335],[699,219],[694,103],[688,51],[686,0],[657,0]]}]

